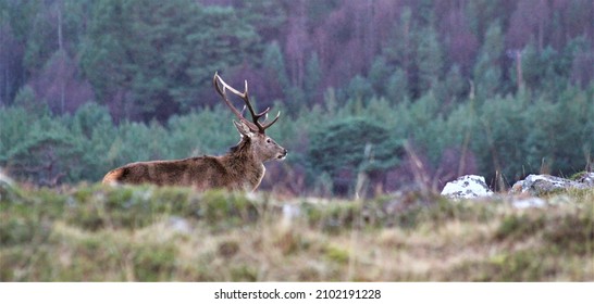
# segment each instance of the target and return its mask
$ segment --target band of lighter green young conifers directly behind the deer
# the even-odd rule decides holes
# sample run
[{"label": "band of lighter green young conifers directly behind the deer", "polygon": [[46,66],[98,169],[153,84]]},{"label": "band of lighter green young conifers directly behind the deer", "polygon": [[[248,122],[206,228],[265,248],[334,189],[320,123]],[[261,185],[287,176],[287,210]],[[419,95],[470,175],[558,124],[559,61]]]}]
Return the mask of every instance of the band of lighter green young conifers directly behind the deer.
[{"label": "band of lighter green young conifers directly behind the deer", "polygon": [[[274,109],[287,113],[282,103]],[[592,94],[579,88],[564,90],[559,101],[510,96],[454,104],[447,116],[443,111],[434,94],[397,106],[371,98],[332,111],[301,112],[295,119],[284,114],[270,135],[290,151],[290,167],[306,169],[309,185],[318,185],[323,172],[329,174],[323,185],[336,183],[343,172],[348,178],[339,183],[346,189],[360,170],[381,176],[396,167],[403,139],[434,166],[445,149],[466,147],[487,180],[499,172],[509,182],[540,170],[569,176],[583,170],[594,155]],[[61,117],[4,107],[0,165],[13,177],[36,183],[97,181],[129,162],[223,154],[238,140],[230,116],[216,106],[173,116],[165,125],[113,125],[107,109],[95,103]],[[323,121],[327,123],[310,123]],[[371,154],[366,156],[368,143]],[[320,187],[310,190],[314,188]]]}]

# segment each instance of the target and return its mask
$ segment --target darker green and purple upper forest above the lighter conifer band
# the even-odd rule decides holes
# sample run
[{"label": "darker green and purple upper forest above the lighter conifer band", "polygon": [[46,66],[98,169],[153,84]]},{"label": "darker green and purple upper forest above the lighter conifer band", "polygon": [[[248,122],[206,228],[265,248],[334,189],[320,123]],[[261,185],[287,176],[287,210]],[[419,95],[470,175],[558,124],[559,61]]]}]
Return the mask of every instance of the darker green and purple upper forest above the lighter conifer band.
[{"label": "darker green and purple upper forest above the lighter conifer band", "polygon": [[[509,56],[521,49],[529,89],[556,96],[570,84],[587,87],[593,41],[581,24],[590,21],[592,3],[553,9],[545,2],[537,11],[550,14],[522,21],[524,2],[2,0],[1,102],[15,104],[25,86],[38,96],[55,94],[52,81],[61,81],[69,85],[62,87],[69,101],[61,110],[73,111],[89,99],[90,85],[97,102],[108,104],[116,121],[165,122],[212,105],[214,71],[237,78],[271,75],[268,83],[276,80],[282,92],[267,88],[259,98],[289,97],[285,101],[290,103],[300,93],[292,110],[322,103],[331,86],[348,91],[357,75],[364,75],[372,94],[394,102],[430,89],[448,102],[459,97],[459,79],[465,85],[472,79],[484,99],[518,89]],[[468,55],[451,56],[448,46]],[[287,75],[296,81],[288,84]],[[445,84],[451,76],[459,79]],[[84,98],[76,92],[83,88]],[[341,104],[346,102],[341,98]]]}]

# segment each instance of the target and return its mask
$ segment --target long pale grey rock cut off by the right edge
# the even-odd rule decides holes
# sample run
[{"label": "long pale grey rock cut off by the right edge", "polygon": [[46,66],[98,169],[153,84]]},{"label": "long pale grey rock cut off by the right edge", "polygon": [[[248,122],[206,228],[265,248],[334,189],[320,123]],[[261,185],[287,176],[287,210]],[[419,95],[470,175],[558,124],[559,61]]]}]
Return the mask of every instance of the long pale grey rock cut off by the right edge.
[{"label": "long pale grey rock cut off by the right edge", "polygon": [[550,176],[550,175],[529,175],[524,180],[519,180],[511,187],[511,194],[528,193],[531,195],[542,195],[558,190],[570,188],[585,189],[594,187],[594,173],[584,173],[577,180]]}]

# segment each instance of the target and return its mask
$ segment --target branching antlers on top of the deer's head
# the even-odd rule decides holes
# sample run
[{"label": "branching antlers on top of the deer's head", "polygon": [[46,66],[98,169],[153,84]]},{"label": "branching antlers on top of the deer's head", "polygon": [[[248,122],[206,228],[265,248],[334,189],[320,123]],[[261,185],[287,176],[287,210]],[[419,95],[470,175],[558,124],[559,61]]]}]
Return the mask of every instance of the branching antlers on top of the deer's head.
[{"label": "branching antlers on top of the deer's head", "polygon": [[[259,119],[262,116],[264,116],[264,122],[265,122],[265,119],[268,118],[268,112],[270,111],[270,107],[267,107],[267,110],[264,110],[262,113],[256,114],[256,112],[253,111],[253,107],[251,106],[251,102],[249,101],[247,80],[245,81],[244,92],[239,92],[238,90],[234,89],[233,87],[227,85],[225,81],[223,81],[221,76],[219,76],[219,73],[214,73],[214,78],[212,79],[212,83],[214,85],[214,89],[216,90],[216,92],[223,98],[223,101],[227,104],[227,106],[235,114],[235,116],[237,116],[239,121],[244,122],[252,131],[259,131],[261,134],[264,134],[265,129],[268,129],[270,126],[276,123],[276,121],[279,119],[279,116],[281,116],[281,112],[279,112],[279,114],[276,114],[276,117],[274,117],[272,122],[268,124],[263,124],[263,125],[259,122]],[[222,88],[219,86],[219,83],[221,83]],[[235,109],[235,106],[233,106],[231,101],[228,101],[226,89],[228,89],[232,93],[238,96],[242,100],[244,100],[246,105],[244,106],[244,110],[242,112]],[[249,110],[249,113],[251,114],[251,119],[253,123],[248,122],[246,117],[244,117],[244,112],[246,110],[246,106]]]}]

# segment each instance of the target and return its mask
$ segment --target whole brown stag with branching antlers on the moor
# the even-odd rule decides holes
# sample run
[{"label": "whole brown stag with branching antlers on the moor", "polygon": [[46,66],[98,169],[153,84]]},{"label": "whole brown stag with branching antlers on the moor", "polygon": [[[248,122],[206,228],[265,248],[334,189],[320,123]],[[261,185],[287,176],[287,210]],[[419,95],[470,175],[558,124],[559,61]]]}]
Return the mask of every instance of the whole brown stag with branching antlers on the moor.
[{"label": "whole brown stag with branching antlers on the moor", "polygon": [[[102,180],[103,185],[151,183],[157,186],[193,187],[199,191],[222,188],[232,191],[255,191],[265,174],[264,163],[282,161],[287,150],[265,135],[265,130],[279,121],[276,117],[267,123],[270,107],[257,113],[249,100],[248,83],[245,80],[244,92],[227,85],[219,73],[212,79],[214,89],[231,109],[238,121],[233,121],[240,140],[237,145],[221,156],[202,155],[184,160],[137,162],[110,170]],[[245,103],[238,111],[227,98],[226,92],[239,97]],[[246,107],[251,122],[244,117]],[[260,119],[264,117],[263,122]]]}]

